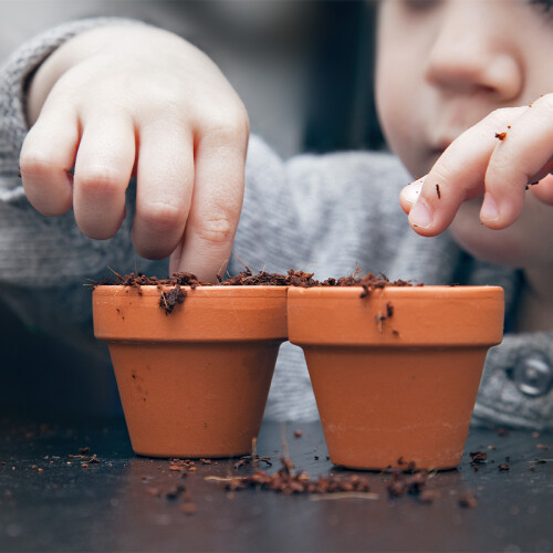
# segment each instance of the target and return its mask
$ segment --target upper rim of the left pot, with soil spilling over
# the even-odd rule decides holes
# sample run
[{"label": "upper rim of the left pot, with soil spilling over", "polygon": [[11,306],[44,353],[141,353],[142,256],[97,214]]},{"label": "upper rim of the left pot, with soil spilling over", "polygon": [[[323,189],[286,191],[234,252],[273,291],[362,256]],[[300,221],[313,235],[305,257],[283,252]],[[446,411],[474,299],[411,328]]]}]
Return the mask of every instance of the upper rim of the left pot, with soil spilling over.
[{"label": "upper rim of the left pot, with soil spilling over", "polygon": [[[107,342],[258,342],[288,338],[283,286],[181,286],[173,312],[161,291],[175,286],[105,285],[92,296],[94,335]],[[253,286],[251,286],[253,288]]]}]

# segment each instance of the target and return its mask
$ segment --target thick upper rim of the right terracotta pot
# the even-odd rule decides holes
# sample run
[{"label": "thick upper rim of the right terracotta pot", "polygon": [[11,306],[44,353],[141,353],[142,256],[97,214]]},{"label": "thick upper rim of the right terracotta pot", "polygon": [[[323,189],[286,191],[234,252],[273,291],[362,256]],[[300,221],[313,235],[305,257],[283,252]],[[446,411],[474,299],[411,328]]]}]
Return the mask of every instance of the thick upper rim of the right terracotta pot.
[{"label": "thick upper rim of the right terracotta pot", "polygon": [[501,286],[290,290],[289,340],[300,346],[469,347],[499,344]]}]

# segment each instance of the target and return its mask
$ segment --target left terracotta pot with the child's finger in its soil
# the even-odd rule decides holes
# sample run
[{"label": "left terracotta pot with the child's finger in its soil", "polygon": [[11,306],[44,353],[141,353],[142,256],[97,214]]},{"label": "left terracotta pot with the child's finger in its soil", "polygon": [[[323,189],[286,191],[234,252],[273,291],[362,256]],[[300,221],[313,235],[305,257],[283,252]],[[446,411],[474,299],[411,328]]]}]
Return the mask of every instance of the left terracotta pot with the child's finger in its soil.
[{"label": "left terracotta pot with the child's finger in its soil", "polygon": [[279,346],[283,286],[200,286],[169,315],[156,286],[97,286],[94,334],[108,343],[136,453],[233,457],[258,436]]}]

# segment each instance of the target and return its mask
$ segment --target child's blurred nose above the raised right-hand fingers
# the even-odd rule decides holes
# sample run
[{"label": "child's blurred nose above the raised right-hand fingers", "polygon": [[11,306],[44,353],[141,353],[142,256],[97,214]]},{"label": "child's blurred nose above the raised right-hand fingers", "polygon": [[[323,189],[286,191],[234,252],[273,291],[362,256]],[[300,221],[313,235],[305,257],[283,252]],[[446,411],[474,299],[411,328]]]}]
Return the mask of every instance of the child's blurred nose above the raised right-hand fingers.
[{"label": "child's blurred nose above the raised right-hand fingers", "polygon": [[[505,40],[494,18],[494,2],[451,2],[429,52],[428,82],[457,93],[488,93],[497,101],[514,101],[523,74],[515,46]],[[502,3],[502,2],[495,2]],[[476,9],[480,4],[489,9]]]}]

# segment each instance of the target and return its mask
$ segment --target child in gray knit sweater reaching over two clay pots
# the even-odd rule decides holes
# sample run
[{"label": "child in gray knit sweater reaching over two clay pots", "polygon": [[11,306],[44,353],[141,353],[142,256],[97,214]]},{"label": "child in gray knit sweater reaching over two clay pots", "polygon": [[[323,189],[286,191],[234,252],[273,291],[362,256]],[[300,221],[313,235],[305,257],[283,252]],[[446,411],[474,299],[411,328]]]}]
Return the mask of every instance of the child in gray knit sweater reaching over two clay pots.
[{"label": "child in gray knit sweater reaching over two clay pots", "polygon": [[[171,254],[171,271],[205,280],[229,259],[237,272],[243,259],[269,271],[311,264],[319,278],[358,262],[428,284],[501,284],[508,333],[488,356],[476,420],[553,426],[550,7],[380,3],[378,111],[418,178],[401,191],[415,232],[397,205],[409,180],[398,159],[349,153],[283,163],[259,138],[248,147],[240,100],[181,39],[118,20],[46,33],[14,53],[0,81],[4,295],[40,274],[36,301],[48,310],[58,300],[67,320],[84,322],[90,299],[70,285],[128,267],[131,240],[140,255]],[[29,201],[56,218],[29,207],[18,161]],[[136,191],[126,192],[132,175]],[[82,237],[64,215],[71,207],[86,237],[115,238]],[[316,417],[301,352],[289,344],[268,415]]]}]

